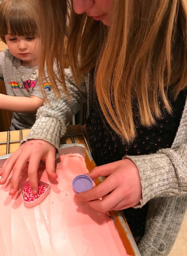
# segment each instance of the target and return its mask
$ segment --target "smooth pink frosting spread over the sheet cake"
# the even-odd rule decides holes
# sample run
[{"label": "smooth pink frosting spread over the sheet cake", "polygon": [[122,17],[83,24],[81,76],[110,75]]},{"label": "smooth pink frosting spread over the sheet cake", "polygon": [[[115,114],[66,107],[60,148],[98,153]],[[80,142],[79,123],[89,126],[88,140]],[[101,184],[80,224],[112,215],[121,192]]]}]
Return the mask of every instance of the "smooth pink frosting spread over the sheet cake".
[{"label": "smooth pink frosting spread over the sheet cake", "polygon": [[[63,155],[56,161],[58,179],[48,180],[41,166],[38,178],[50,183],[46,199],[34,208],[23,205],[21,191],[9,196],[10,179],[0,188],[0,255],[93,256],[127,255],[113,221],[92,209],[87,202],[76,203],[72,180],[87,173],[79,154]],[[27,179],[24,169],[20,186]]]}]

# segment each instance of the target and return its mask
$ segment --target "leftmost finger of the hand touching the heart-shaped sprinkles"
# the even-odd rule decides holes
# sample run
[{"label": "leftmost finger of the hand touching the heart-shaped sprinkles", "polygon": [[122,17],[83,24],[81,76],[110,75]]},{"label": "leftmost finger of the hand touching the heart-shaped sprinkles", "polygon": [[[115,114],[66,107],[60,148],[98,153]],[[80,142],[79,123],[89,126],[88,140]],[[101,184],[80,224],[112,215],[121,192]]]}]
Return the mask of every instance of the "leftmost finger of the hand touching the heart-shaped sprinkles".
[{"label": "leftmost finger of the hand touching the heart-shaped sprinkles", "polygon": [[19,154],[12,154],[3,164],[1,170],[0,170],[0,184],[5,184],[7,181],[8,176],[10,175],[15,163],[17,162],[17,159],[19,158]]}]

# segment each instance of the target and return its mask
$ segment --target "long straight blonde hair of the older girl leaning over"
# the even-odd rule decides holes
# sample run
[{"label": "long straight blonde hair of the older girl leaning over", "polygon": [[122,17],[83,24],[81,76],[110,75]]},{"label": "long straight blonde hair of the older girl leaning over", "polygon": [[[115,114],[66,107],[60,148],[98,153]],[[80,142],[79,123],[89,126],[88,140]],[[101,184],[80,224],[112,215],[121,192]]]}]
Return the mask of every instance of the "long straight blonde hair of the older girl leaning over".
[{"label": "long straight blonde hair of the older girl leaning over", "polygon": [[[47,17],[51,17],[54,13],[46,1],[39,2]],[[47,2],[62,5],[63,1]],[[65,83],[64,61],[60,58],[65,51],[67,31],[67,55],[75,81],[79,84],[81,76],[95,68],[99,104],[109,125],[122,138],[130,142],[135,137],[133,106],[139,110],[139,120],[145,126],[151,126],[161,116],[159,97],[171,113],[168,88],[176,99],[187,85],[185,0],[112,0],[109,27],[86,14],[75,14],[72,2],[64,1],[63,5],[65,12],[55,10],[56,17],[50,20],[47,32],[40,26],[45,53],[41,68],[45,60],[55,58],[59,80]],[[44,18],[44,11],[41,17]],[[52,36],[50,45],[47,38]],[[49,77],[54,79],[52,62],[47,67]]]}]

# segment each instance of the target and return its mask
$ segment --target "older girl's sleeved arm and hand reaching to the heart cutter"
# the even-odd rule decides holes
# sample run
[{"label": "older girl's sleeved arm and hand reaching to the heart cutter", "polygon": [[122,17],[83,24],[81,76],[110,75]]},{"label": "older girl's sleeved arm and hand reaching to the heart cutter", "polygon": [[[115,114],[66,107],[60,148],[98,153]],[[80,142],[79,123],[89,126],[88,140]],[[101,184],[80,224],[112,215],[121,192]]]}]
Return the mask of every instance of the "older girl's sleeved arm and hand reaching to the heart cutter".
[{"label": "older girl's sleeved arm and hand reaching to the heart cutter", "polygon": [[38,190],[37,170],[41,160],[46,162],[46,172],[49,177],[56,179],[55,154],[59,151],[60,138],[66,131],[68,121],[87,99],[84,82],[78,88],[74,84],[70,70],[65,70],[65,78],[70,100],[67,99],[63,90],[60,98],[51,93],[48,96],[49,104],[44,103],[37,111],[36,122],[24,139],[28,142],[22,141],[23,145],[7,159],[0,169],[0,176],[2,176],[0,184],[7,181],[12,171],[10,195],[14,195],[17,191],[26,162],[29,162],[28,176],[33,191]]}]

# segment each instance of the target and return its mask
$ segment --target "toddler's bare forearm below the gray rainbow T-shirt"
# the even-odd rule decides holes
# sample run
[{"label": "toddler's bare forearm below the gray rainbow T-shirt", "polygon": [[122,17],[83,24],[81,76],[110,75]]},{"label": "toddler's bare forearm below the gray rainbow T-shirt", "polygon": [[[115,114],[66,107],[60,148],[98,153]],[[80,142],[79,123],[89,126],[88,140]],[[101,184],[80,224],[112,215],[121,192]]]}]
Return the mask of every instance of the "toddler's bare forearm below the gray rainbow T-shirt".
[{"label": "toddler's bare forearm below the gray rainbow T-shirt", "polygon": [[0,94],[0,109],[18,113],[32,113],[41,107],[44,99],[31,97],[17,97]]}]

